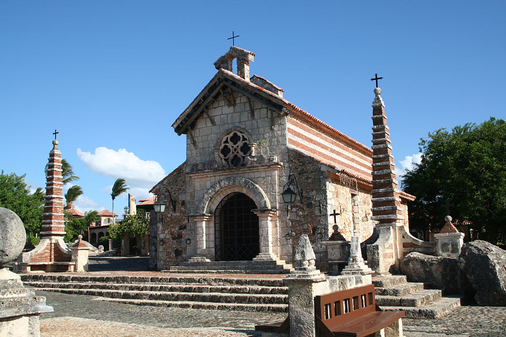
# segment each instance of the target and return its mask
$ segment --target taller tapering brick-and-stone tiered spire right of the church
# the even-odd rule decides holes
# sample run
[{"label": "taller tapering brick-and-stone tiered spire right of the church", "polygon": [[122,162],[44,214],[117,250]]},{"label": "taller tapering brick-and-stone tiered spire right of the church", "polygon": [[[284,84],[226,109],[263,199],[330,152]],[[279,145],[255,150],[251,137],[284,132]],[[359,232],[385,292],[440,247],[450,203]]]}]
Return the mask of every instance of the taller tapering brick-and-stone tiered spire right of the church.
[{"label": "taller tapering brick-and-stone tiered spire right of the church", "polygon": [[374,88],[372,102],[372,220],[378,225],[394,225],[403,219],[401,199],[397,189],[394,156],[385,115],[381,89]]}]

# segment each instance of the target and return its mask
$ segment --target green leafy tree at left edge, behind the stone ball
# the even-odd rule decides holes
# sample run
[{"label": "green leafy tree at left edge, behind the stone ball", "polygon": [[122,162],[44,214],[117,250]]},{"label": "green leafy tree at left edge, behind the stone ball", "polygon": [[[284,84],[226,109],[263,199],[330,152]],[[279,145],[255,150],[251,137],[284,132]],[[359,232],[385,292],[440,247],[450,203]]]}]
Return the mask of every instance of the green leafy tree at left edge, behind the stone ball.
[{"label": "green leafy tree at left edge, behind the stone ball", "polygon": [[39,233],[44,210],[44,192],[41,188],[31,194],[25,175],[0,174],[0,207],[15,212],[30,233]]}]

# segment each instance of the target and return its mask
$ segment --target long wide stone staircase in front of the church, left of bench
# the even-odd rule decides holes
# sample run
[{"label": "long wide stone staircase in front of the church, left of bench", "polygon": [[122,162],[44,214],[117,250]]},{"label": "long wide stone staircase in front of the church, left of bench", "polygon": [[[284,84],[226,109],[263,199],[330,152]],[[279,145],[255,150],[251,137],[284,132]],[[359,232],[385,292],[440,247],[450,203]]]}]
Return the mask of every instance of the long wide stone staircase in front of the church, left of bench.
[{"label": "long wide stone staircase in front of the church, left of bench", "polygon": [[[227,272],[228,273],[228,272]],[[288,312],[281,278],[21,274],[25,285],[95,300],[159,307]]]}]

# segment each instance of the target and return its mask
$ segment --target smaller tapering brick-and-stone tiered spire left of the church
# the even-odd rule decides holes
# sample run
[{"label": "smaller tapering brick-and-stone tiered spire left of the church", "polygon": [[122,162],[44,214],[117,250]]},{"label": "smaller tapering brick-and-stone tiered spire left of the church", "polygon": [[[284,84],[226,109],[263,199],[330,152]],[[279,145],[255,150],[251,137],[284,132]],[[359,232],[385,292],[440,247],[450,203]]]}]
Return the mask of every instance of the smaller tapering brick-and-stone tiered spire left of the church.
[{"label": "smaller tapering brick-and-stone tiered spire left of the church", "polygon": [[58,140],[53,140],[53,150],[49,153],[49,164],[46,177],[46,202],[42,220],[43,237],[65,235],[63,218],[63,182],[62,157],[58,150]]}]

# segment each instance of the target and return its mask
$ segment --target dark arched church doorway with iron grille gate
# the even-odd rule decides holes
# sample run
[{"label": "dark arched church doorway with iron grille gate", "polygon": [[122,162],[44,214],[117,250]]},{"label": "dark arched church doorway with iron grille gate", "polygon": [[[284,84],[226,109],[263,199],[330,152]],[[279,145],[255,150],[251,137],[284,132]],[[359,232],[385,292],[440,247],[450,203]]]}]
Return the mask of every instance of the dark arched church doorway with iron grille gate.
[{"label": "dark arched church doorway with iron grille gate", "polygon": [[215,211],[215,260],[250,261],[260,252],[257,205],[245,194],[223,198]]}]

